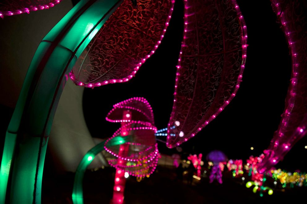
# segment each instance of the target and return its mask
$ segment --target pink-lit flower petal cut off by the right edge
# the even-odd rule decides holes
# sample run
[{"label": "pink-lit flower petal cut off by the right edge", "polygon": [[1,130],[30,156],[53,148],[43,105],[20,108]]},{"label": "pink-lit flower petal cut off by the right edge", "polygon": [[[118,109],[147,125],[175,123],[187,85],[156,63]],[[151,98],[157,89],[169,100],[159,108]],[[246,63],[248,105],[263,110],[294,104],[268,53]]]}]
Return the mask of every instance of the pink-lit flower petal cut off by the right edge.
[{"label": "pink-lit flower petal cut off by the right edge", "polygon": [[293,145],[306,134],[307,126],[307,16],[301,1],[271,0],[273,10],[281,23],[288,40],[292,57],[292,75],[278,130],[258,171],[264,173],[277,164]]}]

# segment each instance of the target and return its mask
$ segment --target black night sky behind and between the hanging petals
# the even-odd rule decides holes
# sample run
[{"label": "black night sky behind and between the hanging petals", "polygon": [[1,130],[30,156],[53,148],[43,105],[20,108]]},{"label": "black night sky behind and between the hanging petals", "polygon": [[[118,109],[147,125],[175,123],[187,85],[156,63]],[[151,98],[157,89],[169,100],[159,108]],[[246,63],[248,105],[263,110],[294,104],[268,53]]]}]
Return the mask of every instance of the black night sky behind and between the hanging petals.
[{"label": "black night sky behind and between the hanging petals", "polygon": [[[237,0],[244,16],[248,44],[247,61],[236,97],[194,138],[180,145],[183,158],[190,153],[206,155],[214,149],[225,152],[229,159],[246,160],[258,156],[270,144],[277,130],[291,76],[291,57],[288,45],[270,1],[261,9],[250,1]],[[158,129],[167,126],[170,118],[175,73],[183,33],[183,3],[176,1],[170,26],[155,54],[136,76],[127,83],[86,88],[83,96],[84,117],[93,137],[109,138],[118,123],[105,120],[112,105],[132,97],[144,97],[154,111]],[[72,82],[68,82],[72,83]],[[166,140],[166,137],[158,137]],[[164,154],[178,153],[158,142]],[[301,139],[277,167],[286,170],[307,170],[306,137]],[[254,148],[251,150],[250,147]]]}]

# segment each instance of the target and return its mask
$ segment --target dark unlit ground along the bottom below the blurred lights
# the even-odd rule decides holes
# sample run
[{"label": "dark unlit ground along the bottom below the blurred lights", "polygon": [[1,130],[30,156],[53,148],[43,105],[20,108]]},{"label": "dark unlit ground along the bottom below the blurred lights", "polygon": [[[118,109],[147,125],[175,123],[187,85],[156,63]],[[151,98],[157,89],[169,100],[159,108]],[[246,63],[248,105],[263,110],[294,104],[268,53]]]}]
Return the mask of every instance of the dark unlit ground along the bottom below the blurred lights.
[{"label": "dark unlit ground along the bottom below the blurred lights", "polygon": [[[113,194],[114,168],[88,170],[84,176],[84,203],[110,203]],[[247,180],[247,175],[244,175]],[[42,188],[42,203],[71,203],[71,192],[74,174],[57,177],[44,175]],[[268,183],[273,181],[268,179]],[[252,192],[253,186],[248,189],[241,178],[232,178],[231,173],[223,173],[223,184],[216,181],[210,184],[208,177],[201,181],[193,179],[188,185],[186,178],[178,181],[175,178],[175,169],[158,166],[155,173],[149,178],[137,182],[135,177],[127,179],[125,187],[125,203],[291,203],[303,202],[306,187],[283,189],[280,184],[272,195]],[[53,189],[53,190],[51,190]],[[284,191],[284,192],[283,192]]]}]

